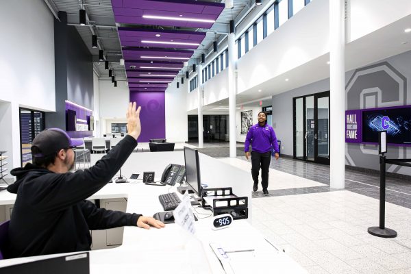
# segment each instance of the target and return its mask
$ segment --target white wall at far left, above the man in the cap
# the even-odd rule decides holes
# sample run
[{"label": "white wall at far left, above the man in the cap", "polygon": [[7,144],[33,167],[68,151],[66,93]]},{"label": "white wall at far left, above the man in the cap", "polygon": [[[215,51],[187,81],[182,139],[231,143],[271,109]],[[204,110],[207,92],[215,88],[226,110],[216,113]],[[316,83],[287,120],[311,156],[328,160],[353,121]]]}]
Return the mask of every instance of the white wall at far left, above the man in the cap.
[{"label": "white wall at far left, above the man in the cap", "polygon": [[21,165],[18,107],[55,111],[53,15],[41,0],[1,1],[0,25],[0,100],[8,102],[0,125],[9,132],[1,134],[0,149],[11,169]]}]

